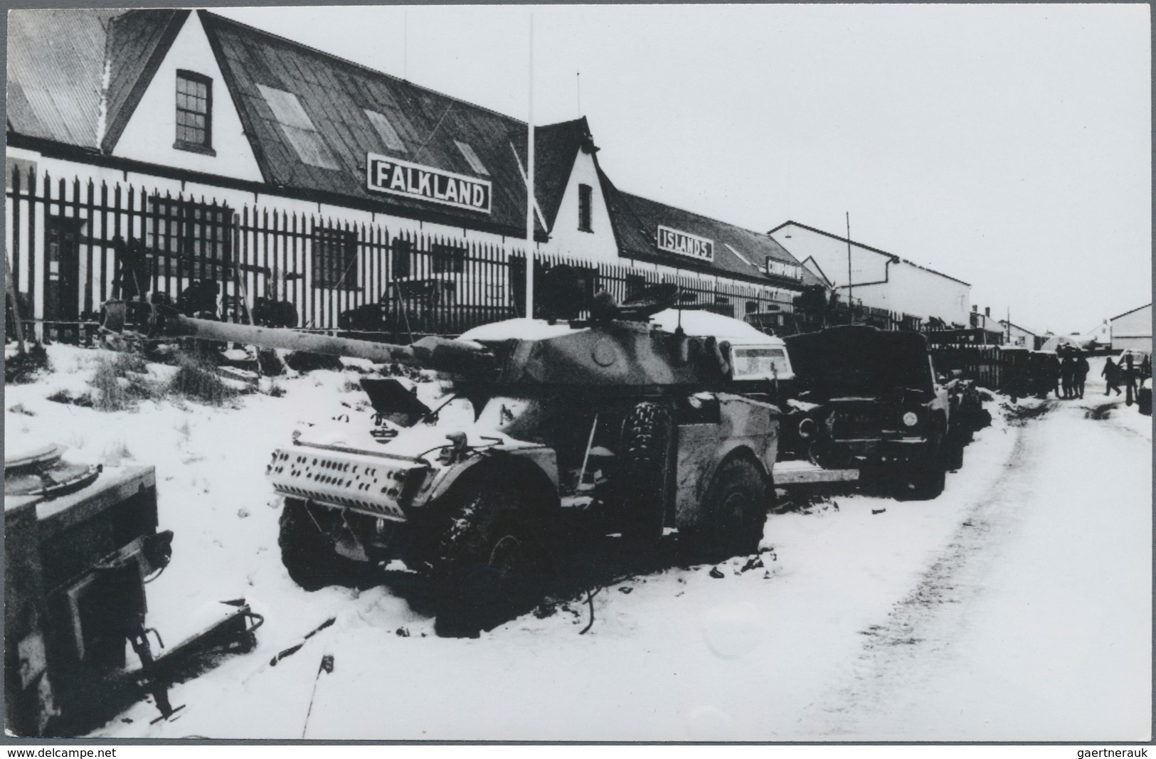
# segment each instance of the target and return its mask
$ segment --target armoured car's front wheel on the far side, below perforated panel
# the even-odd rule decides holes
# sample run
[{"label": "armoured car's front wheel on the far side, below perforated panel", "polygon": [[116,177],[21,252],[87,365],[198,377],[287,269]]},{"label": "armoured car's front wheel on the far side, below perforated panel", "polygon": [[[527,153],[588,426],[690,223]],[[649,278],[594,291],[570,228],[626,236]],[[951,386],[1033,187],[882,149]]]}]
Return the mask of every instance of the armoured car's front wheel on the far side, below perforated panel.
[{"label": "armoured car's front wheel on the far side, below perforated panel", "polygon": [[281,563],[302,589],[320,590],[331,585],[350,585],[371,571],[364,561],[355,561],[333,550],[329,536],[318,529],[305,501],[286,498],[281,509]]}]

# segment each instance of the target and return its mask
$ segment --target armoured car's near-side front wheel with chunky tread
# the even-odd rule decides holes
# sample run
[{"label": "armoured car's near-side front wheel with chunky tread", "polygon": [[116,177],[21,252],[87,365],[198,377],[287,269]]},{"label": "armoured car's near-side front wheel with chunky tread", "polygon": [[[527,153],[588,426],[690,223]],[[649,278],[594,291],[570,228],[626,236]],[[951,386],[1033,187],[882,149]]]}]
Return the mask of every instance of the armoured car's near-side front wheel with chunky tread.
[{"label": "armoured car's near-side front wheel with chunky tread", "polygon": [[517,501],[507,488],[482,483],[450,508],[432,557],[438,634],[476,635],[540,600],[548,568],[544,518]]}]

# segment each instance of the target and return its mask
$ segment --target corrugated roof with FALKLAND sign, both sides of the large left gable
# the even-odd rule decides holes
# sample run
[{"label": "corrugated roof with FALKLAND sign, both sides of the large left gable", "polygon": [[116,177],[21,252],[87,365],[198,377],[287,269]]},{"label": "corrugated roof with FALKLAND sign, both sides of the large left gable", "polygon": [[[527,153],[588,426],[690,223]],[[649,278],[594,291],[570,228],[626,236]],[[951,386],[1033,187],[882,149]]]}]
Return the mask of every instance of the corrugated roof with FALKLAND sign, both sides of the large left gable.
[{"label": "corrugated roof with FALKLAND sign, both sides of the large left gable", "polygon": [[[12,12],[9,131],[111,152],[190,13]],[[353,196],[380,204],[383,213],[524,233],[524,121],[205,10],[198,17],[267,184]],[[262,85],[295,96],[335,169],[302,159]],[[366,111],[385,117],[401,149],[386,144],[371,121],[377,117]],[[580,149],[593,149],[593,142],[585,118],[534,132],[535,195],[553,224],[575,157]],[[486,173],[474,169],[459,142],[469,146]],[[368,152],[489,180],[491,213],[431,208],[421,200],[373,193],[365,187]]]}]

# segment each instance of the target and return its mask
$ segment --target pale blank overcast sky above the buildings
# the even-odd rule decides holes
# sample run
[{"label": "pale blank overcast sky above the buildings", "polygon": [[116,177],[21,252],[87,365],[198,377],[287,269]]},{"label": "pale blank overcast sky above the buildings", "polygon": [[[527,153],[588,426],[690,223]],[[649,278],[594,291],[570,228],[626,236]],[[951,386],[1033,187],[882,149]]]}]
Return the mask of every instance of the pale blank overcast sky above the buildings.
[{"label": "pale blank overcast sky above the buildings", "polygon": [[532,12],[534,121],[585,114],[622,189],[758,231],[850,213],[1040,333],[1151,300],[1148,6],[217,12],[521,119]]}]

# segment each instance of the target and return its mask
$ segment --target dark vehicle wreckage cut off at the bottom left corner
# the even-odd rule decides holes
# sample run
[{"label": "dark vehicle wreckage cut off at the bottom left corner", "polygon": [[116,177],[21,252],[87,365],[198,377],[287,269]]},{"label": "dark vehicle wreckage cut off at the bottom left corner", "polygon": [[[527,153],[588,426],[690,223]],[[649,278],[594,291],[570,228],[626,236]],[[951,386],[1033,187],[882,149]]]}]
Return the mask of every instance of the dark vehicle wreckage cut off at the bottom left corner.
[{"label": "dark vehicle wreckage cut off at the bottom left corner", "polygon": [[172,531],[157,530],[153,467],[64,453],[49,445],[5,459],[5,723],[27,737],[95,729],[139,685],[169,717],[180,708],[169,702],[169,667],[205,645],[251,648],[260,625],[244,601],[227,602],[212,625],[165,648],[146,626],[144,583],[172,553]]}]

